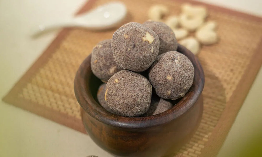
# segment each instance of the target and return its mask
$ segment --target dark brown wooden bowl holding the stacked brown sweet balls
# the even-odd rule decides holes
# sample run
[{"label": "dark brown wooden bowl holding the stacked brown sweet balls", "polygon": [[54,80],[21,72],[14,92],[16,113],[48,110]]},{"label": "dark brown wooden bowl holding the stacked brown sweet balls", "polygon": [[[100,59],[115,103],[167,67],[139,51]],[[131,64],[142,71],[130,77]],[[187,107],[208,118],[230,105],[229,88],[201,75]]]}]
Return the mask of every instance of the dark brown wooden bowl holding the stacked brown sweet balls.
[{"label": "dark brown wooden bowl holding the stacked brown sweet balls", "polygon": [[85,129],[97,145],[115,156],[165,156],[192,136],[202,117],[204,72],[188,49],[179,45],[177,51],[194,65],[193,85],[173,108],[148,117],[123,117],[102,108],[96,101],[102,82],[91,71],[91,55],[83,61],[75,76],[74,91]]}]

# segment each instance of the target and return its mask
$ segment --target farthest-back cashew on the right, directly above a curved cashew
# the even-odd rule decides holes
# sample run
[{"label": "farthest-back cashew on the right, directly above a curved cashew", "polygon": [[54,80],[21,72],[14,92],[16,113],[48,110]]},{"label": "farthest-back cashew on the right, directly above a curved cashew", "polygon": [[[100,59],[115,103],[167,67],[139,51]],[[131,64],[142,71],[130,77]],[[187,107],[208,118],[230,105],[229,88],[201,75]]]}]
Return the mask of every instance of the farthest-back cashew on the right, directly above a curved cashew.
[{"label": "farthest-back cashew on the right, directly above a curved cashew", "polygon": [[181,7],[182,13],[188,16],[199,16],[205,18],[208,15],[206,7],[202,5],[191,5],[189,3],[185,3]]}]

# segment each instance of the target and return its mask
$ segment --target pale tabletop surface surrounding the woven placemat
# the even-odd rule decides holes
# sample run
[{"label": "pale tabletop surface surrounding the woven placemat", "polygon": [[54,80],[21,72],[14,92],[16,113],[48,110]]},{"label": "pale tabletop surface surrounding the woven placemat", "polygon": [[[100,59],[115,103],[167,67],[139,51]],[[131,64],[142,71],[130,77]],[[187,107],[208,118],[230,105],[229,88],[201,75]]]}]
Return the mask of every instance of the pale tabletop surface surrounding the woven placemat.
[{"label": "pale tabletop surface surrounding the woven placemat", "polygon": [[[262,16],[260,0],[201,1]],[[59,32],[54,30],[32,38],[34,26],[70,17],[85,3],[86,0],[0,1],[1,98],[30,68]],[[260,69],[218,156],[261,155],[261,89]],[[100,157],[108,155],[83,133],[0,102],[0,156],[84,157],[92,154]]]}]

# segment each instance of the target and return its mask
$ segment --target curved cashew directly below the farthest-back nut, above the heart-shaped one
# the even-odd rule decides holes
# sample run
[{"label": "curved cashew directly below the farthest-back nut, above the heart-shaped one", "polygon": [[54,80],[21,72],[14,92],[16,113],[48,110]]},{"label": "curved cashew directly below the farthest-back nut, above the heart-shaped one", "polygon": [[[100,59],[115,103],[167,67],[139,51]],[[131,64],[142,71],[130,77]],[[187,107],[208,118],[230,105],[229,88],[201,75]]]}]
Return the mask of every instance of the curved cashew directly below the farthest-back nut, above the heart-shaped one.
[{"label": "curved cashew directly below the farthest-back nut, above the heart-shaped one", "polygon": [[179,23],[183,28],[189,31],[194,31],[204,23],[204,19],[201,16],[181,14],[179,16]]}]

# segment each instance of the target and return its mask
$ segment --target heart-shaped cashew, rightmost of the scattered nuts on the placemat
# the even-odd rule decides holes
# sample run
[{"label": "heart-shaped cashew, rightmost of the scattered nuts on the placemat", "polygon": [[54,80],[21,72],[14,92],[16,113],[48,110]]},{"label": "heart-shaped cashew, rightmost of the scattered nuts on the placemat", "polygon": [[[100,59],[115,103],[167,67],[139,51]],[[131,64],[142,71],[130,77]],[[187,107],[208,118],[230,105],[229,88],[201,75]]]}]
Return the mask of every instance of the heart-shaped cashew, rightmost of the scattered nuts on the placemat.
[{"label": "heart-shaped cashew, rightmost of the scattered nuts on the placemat", "polygon": [[216,23],[209,21],[201,26],[195,33],[195,37],[201,44],[210,45],[218,42],[218,36],[215,32]]}]

